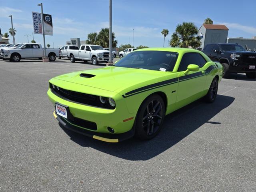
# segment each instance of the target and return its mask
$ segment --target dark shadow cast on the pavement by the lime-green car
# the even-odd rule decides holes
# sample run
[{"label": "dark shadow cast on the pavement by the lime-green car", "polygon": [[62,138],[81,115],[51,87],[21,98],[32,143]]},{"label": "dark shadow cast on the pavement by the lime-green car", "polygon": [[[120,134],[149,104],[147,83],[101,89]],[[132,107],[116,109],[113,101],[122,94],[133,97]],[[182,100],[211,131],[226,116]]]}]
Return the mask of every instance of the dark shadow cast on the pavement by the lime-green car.
[{"label": "dark shadow cast on the pavement by the lime-green car", "polygon": [[107,143],[67,130],[60,127],[70,136],[70,139],[83,147],[91,147],[106,154],[126,160],[149,160],[168,150],[186,136],[194,132],[205,123],[221,124],[209,121],[232,102],[233,97],[218,95],[212,104],[198,100],[173,112],[165,117],[162,130],[152,140],[138,140],[131,138],[120,143]]}]

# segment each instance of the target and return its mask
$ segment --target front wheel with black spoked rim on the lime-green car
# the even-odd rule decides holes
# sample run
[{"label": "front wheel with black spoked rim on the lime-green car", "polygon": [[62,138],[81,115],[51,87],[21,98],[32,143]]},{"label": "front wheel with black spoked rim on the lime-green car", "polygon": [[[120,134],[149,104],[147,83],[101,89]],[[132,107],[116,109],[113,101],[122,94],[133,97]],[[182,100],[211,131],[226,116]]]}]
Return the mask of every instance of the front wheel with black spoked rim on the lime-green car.
[{"label": "front wheel with black spoked rim on the lime-green car", "polygon": [[164,116],[165,104],[162,97],[153,94],[146,98],[141,104],[134,122],[135,136],[141,140],[154,138],[162,127]]}]

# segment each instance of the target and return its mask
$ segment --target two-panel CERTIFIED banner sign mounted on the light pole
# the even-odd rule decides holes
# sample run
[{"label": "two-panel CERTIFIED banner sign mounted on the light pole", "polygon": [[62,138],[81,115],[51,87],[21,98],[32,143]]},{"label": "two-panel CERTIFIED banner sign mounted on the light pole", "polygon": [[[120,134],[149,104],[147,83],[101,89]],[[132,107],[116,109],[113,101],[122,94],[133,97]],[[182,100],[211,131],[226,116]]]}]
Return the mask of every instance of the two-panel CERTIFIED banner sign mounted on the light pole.
[{"label": "two-panel CERTIFIED banner sign mounted on the light pole", "polygon": [[43,22],[44,22],[44,34],[52,35],[52,16],[44,14],[42,18],[41,13],[32,12],[34,34],[43,34]]}]

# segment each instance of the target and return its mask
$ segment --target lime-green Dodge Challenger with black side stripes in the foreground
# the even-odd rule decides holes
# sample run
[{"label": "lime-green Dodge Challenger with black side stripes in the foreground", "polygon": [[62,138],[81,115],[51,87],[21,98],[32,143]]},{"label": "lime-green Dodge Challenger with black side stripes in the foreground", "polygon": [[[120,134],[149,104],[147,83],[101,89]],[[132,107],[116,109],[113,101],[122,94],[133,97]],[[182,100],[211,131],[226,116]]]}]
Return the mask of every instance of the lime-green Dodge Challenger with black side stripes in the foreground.
[{"label": "lime-green Dodge Challenger with black side stripes in the foreground", "polygon": [[214,102],[222,72],[198,50],[145,48],[113,66],[52,78],[47,93],[69,130],[106,142],[151,139],[166,114],[202,97]]}]

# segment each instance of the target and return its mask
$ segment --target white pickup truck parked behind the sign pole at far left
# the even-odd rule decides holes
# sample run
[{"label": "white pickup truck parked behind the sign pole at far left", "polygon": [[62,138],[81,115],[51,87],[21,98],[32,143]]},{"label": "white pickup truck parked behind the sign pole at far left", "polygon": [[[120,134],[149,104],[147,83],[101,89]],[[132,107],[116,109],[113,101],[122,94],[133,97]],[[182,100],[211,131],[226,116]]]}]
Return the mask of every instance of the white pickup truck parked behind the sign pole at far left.
[{"label": "white pickup truck parked behind the sign pole at far left", "polygon": [[[1,57],[12,62],[19,62],[22,58],[39,58],[43,57],[43,48],[37,43],[22,43],[15,48],[1,50]],[[46,56],[50,61],[55,61],[56,56],[59,56],[59,49],[47,49]]]}]

